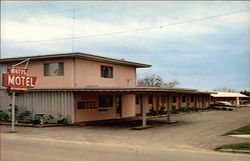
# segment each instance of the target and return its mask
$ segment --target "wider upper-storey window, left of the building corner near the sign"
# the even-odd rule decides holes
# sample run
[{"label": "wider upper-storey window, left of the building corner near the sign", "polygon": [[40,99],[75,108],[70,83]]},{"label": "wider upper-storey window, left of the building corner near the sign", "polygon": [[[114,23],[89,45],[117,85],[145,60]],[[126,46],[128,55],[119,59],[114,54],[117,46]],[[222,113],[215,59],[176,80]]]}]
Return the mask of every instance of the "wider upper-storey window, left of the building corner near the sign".
[{"label": "wider upper-storey window, left of the building corner near the sign", "polygon": [[63,63],[47,63],[44,64],[44,76],[63,76]]}]

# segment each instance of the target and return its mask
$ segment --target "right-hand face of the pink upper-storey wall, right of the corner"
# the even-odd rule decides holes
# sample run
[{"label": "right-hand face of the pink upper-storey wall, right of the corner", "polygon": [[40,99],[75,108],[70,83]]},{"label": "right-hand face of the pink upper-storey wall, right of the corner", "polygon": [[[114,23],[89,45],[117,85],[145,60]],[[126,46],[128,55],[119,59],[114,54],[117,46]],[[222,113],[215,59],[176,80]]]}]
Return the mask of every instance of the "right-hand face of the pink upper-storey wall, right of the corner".
[{"label": "right-hand face of the pink upper-storey wall, right of the corner", "polygon": [[[113,67],[113,78],[101,78],[101,65]],[[76,87],[135,87],[136,71],[133,67],[76,60]]]}]

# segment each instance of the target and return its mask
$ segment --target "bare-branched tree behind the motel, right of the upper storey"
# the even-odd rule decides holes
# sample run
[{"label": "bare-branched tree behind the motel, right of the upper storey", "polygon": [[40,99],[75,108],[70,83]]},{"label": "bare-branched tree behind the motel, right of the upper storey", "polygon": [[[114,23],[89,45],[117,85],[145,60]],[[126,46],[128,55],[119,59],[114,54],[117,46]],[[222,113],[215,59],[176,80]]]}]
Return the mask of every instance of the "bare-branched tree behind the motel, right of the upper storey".
[{"label": "bare-branched tree behind the motel, right of the upper storey", "polygon": [[176,80],[170,82],[164,82],[164,80],[159,75],[147,75],[144,78],[138,80],[139,87],[168,87],[173,88],[180,83]]}]

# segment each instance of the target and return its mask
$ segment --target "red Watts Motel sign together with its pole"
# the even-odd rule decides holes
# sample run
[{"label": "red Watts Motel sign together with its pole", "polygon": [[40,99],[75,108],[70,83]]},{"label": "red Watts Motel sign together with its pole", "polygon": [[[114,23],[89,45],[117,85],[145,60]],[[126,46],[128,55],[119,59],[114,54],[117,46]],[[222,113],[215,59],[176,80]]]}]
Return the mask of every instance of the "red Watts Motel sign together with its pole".
[{"label": "red Watts Motel sign together with its pole", "polygon": [[[17,65],[26,62],[25,68],[17,68]],[[8,87],[7,90],[12,92],[12,121],[11,121],[11,132],[15,132],[15,95],[16,92],[27,92],[28,88],[35,87],[36,77],[28,76],[27,65],[29,59],[24,60],[16,65],[13,65],[12,68],[8,69],[8,73],[3,74],[3,86]]]}]

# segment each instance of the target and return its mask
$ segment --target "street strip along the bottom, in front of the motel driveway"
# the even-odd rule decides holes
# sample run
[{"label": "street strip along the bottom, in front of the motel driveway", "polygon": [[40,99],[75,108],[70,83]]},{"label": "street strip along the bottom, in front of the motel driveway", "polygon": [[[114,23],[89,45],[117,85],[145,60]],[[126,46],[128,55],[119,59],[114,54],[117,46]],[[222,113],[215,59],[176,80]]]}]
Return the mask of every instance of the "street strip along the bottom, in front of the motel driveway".
[{"label": "street strip along the bottom, in front of the motel driveway", "polygon": [[249,155],[219,153],[202,149],[169,149],[89,144],[53,139],[4,138],[1,161],[249,161]]}]

